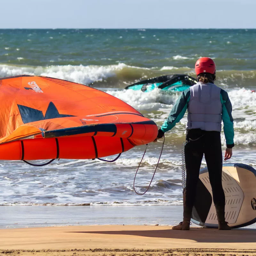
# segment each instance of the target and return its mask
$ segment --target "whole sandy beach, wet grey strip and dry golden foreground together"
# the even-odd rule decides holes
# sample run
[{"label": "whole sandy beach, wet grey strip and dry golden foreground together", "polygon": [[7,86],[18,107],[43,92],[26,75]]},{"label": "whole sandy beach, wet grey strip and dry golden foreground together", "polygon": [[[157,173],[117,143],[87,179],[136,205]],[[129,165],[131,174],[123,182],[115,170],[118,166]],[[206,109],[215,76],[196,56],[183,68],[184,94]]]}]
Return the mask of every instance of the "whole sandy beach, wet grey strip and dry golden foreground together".
[{"label": "whole sandy beach, wet grey strip and dry golden foreground together", "polygon": [[[182,206],[1,206],[8,255],[255,255],[255,224],[172,230]],[[110,224],[110,225],[109,225]],[[118,224],[118,225],[117,225]]]}]

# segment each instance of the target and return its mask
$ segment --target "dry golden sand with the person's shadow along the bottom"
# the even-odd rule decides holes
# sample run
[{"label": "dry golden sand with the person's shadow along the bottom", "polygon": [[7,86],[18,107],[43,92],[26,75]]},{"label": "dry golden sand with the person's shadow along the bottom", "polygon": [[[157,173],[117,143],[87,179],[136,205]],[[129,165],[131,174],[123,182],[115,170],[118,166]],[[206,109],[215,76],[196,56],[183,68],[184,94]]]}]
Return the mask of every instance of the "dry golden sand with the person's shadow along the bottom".
[{"label": "dry golden sand with the person's shadow along the bottom", "polygon": [[[185,249],[184,249],[185,248]],[[0,255],[256,255],[256,229],[68,226],[0,230]]]}]

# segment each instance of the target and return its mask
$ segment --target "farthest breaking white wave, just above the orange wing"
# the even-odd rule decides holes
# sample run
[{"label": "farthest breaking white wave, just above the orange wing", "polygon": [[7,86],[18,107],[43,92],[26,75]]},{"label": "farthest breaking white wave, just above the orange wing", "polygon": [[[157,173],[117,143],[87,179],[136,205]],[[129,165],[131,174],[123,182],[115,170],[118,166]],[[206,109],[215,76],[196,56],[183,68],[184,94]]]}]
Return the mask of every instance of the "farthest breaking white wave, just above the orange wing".
[{"label": "farthest breaking white wave, just above the orange wing", "polygon": [[[180,56],[180,55],[177,55]],[[180,56],[182,57],[182,56]],[[21,57],[18,57],[21,60]],[[178,57],[177,57],[178,58]],[[187,58],[187,57],[184,57]],[[124,88],[126,84],[132,84],[139,80],[150,77],[163,76],[168,74],[188,74],[195,77],[194,68],[164,66],[164,67],[136,67],[124,63],[116,65],[51,65],[43,66],[22,66],[0,64],[0,76],[17,76],[17,75],[36,75],[50,76],[64,79],[80,84],[100,87]],[[223,86],[238,86],[255,88],[256,71],[255,70],[219,70],[217,71],[217,84]],[[242,85],[242,86],[241,86]]]}]

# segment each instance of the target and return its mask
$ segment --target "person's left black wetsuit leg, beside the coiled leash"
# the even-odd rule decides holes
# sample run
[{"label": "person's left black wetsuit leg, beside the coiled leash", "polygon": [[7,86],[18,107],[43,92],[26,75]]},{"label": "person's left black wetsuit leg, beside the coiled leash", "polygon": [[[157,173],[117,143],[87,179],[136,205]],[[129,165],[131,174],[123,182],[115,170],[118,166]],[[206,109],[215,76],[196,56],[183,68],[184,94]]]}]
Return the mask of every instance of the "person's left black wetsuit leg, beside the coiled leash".
[{"label": "person's left black wetsuit leg, beside the coiled leash", "polygon": [[[186,139],[195,140],[203,135],[201,129],[191,129],[187,131]],[[183,191],[183,220],[190,221],[192,209],[196,197],[196,186],[199,178],[200,166],[202,163],[203,137],[196,141],[189,141],[185,146],[185,165],[186,165],[186,187]]]}]

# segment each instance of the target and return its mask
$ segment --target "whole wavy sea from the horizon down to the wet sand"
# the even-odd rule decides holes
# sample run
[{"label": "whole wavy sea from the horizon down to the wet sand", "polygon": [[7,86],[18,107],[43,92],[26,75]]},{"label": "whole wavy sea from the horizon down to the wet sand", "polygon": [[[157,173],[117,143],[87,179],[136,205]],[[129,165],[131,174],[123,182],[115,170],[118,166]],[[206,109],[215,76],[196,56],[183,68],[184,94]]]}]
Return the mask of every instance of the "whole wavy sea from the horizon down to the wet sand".
[{"label": "whole wavy sea from the horizon down to the wet sand", "polygon": [[[124,87],[160,75],[195,77],[196,60],[209,56],[217,65],[216,84],[233,105],[236,146],[228,161],[256,168],[255,40],[256,29],[2,29],[0,76],[42,75],[86,84],[124,100],[160,127],[180,93]],[[166,133],[160,164],[144,196],[133,190],[145,150],[140,146],[115,163],[60,159],[33,167],[0,161],[0,205],[181,205],[186,116]],[[224,152],[223,132],[221,138]],[[161,147],[161,140],[148,145],[135,182],[139,192],[151,180]]]}]

